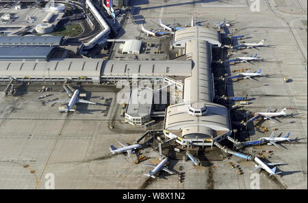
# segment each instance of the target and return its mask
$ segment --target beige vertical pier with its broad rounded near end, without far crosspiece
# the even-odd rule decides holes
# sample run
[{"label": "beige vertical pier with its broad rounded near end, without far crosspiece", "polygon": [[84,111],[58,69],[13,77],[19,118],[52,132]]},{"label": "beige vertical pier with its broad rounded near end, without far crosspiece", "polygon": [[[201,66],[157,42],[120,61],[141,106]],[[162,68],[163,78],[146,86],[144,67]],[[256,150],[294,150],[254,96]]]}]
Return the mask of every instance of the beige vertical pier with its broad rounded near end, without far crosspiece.
[{"label": "beige vertical pier with its broad rounded near end, without far crosspiece", "polygon": [[211,44],[196,38],[187,41],[185,47],[187,59],[193,62],[192,74],[185,79],[183,103],[167,108],[164,134],[170,139],[176,137],[185,146],[212,146],[213,141],[231,134],[229,109],[211,103],[214,99]]}]

